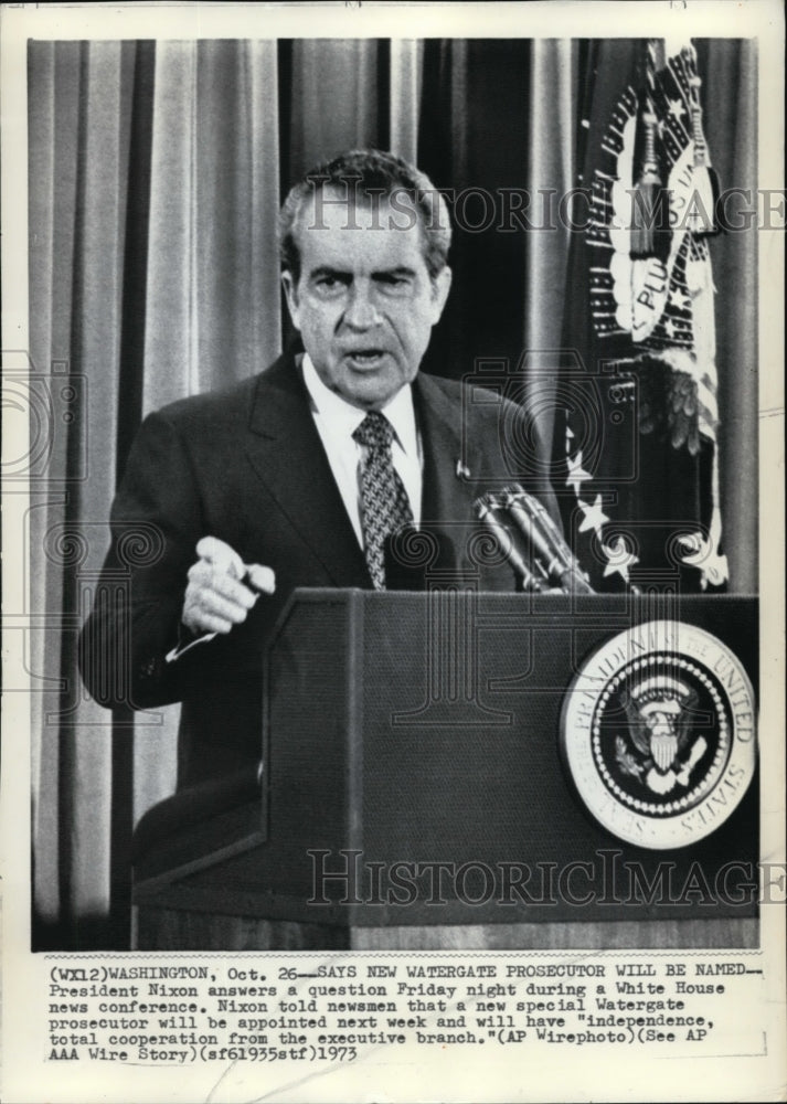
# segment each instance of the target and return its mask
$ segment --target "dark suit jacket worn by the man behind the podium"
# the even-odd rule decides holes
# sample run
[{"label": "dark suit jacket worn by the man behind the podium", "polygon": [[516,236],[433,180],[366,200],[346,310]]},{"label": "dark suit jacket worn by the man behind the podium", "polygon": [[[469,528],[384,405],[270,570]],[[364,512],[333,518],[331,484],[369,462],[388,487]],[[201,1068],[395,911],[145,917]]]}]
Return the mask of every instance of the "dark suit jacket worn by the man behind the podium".
[{"label": "dark suit jacket worn by the man behind the podium", "polygon": [[[435,535],[442,567],[476,575],[468,554],[474,499],[518,476],[502,455],[500,402],[462,404],[460,384],[426,375],[413,393],[424,452],[422,528]],[[469,479],[457,474],[460,459]],[[547,488],[532,489],[549,499]],[[187,572],[206,535],[246,563],[273,567],[276,594],[260,597],[226,637],[168,664]],[[113,506],[111,537],[81,640],[88,690],[108,707],[183,702],[181,786],[255,762],[263,651],[287,598],[297,586],[371,587],[293,358],[230,391],[150,415]],[[404,585],[419,588],[423,575],[405,575]],[[513,590],[513,575],[508,566],[485,570],[481,586]]]}]

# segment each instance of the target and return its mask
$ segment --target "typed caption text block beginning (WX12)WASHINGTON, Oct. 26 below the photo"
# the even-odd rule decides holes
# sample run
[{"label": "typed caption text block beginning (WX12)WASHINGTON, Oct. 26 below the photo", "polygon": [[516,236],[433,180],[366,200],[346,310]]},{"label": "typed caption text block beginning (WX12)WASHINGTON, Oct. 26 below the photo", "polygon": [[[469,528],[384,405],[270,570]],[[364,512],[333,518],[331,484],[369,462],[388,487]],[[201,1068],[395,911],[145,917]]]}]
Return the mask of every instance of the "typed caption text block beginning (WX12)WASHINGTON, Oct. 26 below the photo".
[{"label": "typed caption text block beginning (WX12)WASHINGTON, Oct. 26 below the photo", "polygon": [[47,957],[51,1062],[336,1063],[380,1047],[763,1052],[758,952]]}]

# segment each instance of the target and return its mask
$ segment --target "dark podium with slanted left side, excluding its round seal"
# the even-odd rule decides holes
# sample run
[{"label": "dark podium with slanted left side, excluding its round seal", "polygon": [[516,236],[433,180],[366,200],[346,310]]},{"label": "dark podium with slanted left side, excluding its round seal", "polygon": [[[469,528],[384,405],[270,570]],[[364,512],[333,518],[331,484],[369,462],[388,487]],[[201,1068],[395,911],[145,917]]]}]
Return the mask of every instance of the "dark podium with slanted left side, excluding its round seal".
[{"label": "dark podium with slanted left side, excluding its round seal", "polygon": [[148,849],[136,946],[756,945],[756,779],[710,836],[653,851],[600,827],[561,758],[586,658],[669,619],[756,686],[749,597],[297,591],[264,673],[258,793],[230,787]]}]

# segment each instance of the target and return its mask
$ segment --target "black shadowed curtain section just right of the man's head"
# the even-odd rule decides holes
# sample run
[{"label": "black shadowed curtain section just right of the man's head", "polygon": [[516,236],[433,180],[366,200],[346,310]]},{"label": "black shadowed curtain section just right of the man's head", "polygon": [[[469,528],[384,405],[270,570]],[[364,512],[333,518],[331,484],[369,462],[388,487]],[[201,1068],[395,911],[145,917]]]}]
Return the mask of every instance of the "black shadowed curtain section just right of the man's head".
[{"label": "black shadowed curtain section just right of the man's head", "polygon": [[529,169],[528,41],[424,43],[418,164],[453,189],[451,267],[446,311],[424,370],[460,379],[477,358],[515,365],[524,332],[523,231],[503,189],[523,189]]}]

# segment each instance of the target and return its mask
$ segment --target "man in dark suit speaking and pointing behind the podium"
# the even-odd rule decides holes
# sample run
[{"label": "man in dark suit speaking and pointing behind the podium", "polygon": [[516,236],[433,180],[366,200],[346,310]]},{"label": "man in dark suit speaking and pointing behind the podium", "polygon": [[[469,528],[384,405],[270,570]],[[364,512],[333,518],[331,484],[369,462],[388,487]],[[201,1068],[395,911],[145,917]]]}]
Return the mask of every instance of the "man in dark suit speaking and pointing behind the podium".
[{"label": "man in dark suit speaking and pointing behind the podium", "polygon": [[[457,581],[513,588],[468,540],[476,495],[512,478],[501,405],[418,374],[449,242],[445,204],[413,167],[377,151],[321,166],[280,223],[305,352],[139,431],[82,670],[106,705],[183,702],[181,786],[258,760],[263,654],[295,587],[423,586],[391,555],[395,531],[421,529]],[[153,538],[126,592],[113,584],[140,523]]]}]

